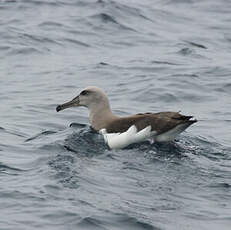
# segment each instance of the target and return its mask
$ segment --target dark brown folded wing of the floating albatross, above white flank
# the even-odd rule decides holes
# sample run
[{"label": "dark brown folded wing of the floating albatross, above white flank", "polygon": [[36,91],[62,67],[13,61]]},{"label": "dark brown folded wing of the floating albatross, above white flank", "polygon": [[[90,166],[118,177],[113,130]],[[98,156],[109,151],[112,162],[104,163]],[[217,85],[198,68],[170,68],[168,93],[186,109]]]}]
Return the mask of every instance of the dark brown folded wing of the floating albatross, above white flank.
[{"label": "dark brown folded wing of the floating albatross, above white flank", "polygon": [[157,134],[167,132],[179,124],[193,124],[196,120],[190,120],[192,116],[184,116],[176,112],[144,113],[129,117],[121,117],[109,123],[106,127],[108,133],[125,132],[129,127],[135,125],[142,130],[151,125],[152,131]]}]

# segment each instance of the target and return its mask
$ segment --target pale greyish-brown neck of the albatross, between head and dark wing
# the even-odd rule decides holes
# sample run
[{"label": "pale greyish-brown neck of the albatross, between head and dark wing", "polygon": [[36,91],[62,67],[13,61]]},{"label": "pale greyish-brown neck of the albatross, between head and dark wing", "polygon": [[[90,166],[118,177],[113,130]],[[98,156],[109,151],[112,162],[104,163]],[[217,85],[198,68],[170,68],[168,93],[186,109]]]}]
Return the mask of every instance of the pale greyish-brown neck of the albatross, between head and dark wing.
[{"label": "pale greyish-brown neck of the albatross, between head and dark wing", "polygon": [[112,113],[109,103],[97,104],[90,108],[89,112],[91,126],[97,131],[105,128],[108,123],[118,118]]}]

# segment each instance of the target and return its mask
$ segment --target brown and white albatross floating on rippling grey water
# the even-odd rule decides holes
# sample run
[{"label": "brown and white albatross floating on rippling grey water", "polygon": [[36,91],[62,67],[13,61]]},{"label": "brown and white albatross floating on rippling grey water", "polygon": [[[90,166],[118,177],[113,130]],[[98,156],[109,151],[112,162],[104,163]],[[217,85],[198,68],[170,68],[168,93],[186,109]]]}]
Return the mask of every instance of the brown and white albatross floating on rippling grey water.
[{"label": "brown and white albatross floating on rippling grey water", "polygon": [[124,148],[151,138],[153,142],[169,142],[197,122],[193,116],[179,112],[138,113],[120,117],[113,114],[105,92],[89,86],[69,102],[58,105],[59,112],[70,107],[84,106],[89,110],[91,127],[101,133],[111,149]]}]

